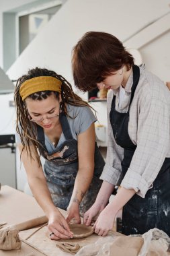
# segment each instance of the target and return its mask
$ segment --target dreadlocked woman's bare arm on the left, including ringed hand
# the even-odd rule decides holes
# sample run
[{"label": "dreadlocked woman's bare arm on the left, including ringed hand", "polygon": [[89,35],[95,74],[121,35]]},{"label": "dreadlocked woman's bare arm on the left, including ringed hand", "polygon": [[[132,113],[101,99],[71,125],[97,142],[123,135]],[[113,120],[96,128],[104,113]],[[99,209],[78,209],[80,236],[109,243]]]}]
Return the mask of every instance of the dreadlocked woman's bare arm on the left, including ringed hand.
[{"label": "dreadlocked woman's bare arm on the left, including ringed hand", "polygon": [[[22,152],[22,143],[19,143],[19,151]],[[50,191],[46,184],[46,178],[42,166],[38,165],[38,160],[34,154],[34,148],[32,148],[32,156],[34,159],[30,159],[26,150],[22,152],[22,162],[26,169],[28,183],[32,189],[32,193],[36,198],[36,201],[44,210],[48,217],[48,230],[54,233],[53,239],[57,238],[70,238],[72,236],[69,226],[62,214],[55,207],[50,196]]]}]

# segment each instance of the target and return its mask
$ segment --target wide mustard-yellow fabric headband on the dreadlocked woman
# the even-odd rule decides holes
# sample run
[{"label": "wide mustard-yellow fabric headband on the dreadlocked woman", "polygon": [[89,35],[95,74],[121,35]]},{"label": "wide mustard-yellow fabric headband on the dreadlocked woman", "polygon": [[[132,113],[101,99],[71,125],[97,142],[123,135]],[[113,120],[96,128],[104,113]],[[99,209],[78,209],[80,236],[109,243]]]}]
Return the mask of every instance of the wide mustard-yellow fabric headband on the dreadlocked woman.
[{"label": "wide mustard-yellow fabric headband on the dreadlocked woman", "polygon": [[38,76],[32,79],[26,80],[22,86],[19,88],[19,94],[22,97],[22,100],[25,100],[29,95],[34,94],[35,92],[42,91],[61,91],[62,82],[56,77],[52,76]]}]

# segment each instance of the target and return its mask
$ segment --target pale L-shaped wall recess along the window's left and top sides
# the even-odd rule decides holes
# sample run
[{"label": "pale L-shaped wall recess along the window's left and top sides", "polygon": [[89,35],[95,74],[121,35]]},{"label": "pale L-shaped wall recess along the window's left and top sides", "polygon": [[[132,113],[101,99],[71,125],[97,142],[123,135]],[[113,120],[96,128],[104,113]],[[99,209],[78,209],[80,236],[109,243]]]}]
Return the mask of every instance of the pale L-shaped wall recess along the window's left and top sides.
[{"label": "pale L-shaped wall recess along the window's left and top sides", "polygon": [[[61,0],[65,3],[67,0]],[[48,8],[57,5],[57,0],[1,0],[0,1],[0,67],[5,71],[15,61],[19,49],[18,13],[36,11],[39,7]]]}]

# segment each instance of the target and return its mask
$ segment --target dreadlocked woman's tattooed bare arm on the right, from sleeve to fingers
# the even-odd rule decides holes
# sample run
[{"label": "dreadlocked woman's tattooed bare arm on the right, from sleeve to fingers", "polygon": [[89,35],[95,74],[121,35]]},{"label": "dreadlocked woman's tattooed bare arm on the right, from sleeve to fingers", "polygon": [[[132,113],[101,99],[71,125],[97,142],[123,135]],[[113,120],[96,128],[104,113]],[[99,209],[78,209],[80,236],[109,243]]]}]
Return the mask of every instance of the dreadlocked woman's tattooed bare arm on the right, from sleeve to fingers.
[{"label": "dreadlocked woman's tattooed bare arm on the right, from sleeve to fingers", "polygon": [[94,151],[95,151],[95,128],[94,123],[77,136],[78,142],[78,156],[79,156],[79,170],[75,179],[75,185],[71,201],[69,203],[69,216],[67,221],[75,218],[77,223],[81,222],[79,216],[79,204],[83,199],[86,191],[93,178],[94,172]]}]

